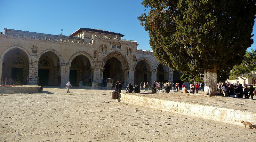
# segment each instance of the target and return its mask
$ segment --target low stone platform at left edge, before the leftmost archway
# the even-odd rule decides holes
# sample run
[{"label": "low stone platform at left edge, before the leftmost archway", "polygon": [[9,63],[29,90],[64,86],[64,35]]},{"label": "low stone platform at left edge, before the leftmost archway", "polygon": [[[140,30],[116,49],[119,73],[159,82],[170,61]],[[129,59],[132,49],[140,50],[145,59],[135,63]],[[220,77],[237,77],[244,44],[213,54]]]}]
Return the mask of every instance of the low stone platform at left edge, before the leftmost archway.
[{"label": "low stone platform at left edge, before the leftmost archway", "polygon": [[0,86],[0,93],[41,93],[43,87],[37,85]]}]

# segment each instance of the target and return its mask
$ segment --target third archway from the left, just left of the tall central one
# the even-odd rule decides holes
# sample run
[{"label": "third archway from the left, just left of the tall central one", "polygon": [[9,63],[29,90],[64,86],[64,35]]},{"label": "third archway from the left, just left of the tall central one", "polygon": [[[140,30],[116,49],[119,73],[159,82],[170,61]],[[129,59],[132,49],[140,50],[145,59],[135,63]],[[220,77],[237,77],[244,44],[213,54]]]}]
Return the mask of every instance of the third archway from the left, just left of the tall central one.
[{"label": "third archway from the left, just left of the tall central one", "polygon": [[69,70],[69,81],[71,85],[79,85],[79,81],[91,83],[91,72],[90,60],[83,54],[77,55],[72,60]]}]

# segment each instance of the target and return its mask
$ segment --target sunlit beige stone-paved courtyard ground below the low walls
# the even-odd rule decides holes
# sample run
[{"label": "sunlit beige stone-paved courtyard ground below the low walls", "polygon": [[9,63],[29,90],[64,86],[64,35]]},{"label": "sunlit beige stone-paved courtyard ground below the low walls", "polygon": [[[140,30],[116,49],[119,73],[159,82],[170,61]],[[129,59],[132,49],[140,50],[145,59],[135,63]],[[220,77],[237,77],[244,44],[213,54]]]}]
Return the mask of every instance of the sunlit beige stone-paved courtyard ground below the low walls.
[{"label": "sunlit beige stone-paved courtyard ground below the low walls", "polygon": [[255,129],[114,102],[112,90],[74,88],[1,94],[0,141],[256,141]]}]

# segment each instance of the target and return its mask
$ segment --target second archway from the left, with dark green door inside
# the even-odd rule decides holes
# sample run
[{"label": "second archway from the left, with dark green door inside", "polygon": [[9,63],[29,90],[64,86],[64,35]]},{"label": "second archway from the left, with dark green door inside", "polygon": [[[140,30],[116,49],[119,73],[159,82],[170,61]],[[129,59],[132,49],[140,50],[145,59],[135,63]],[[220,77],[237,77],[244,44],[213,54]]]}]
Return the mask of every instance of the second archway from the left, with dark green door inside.
[{"label": "second archway from the left, with dark green door inside", "polygon": [[38,60],[38,85],[60,85],[60,59],[52,51],[43,53]]}]

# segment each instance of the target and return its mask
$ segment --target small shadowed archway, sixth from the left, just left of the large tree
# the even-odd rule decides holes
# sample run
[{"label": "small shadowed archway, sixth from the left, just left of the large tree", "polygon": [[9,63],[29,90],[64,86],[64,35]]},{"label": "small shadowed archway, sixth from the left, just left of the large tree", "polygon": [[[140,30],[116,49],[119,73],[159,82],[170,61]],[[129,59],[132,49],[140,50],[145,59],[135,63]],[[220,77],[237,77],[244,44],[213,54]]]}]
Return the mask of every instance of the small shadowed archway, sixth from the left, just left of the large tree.
[{"label": "small shadowed archway, sixth from the left, just left of the large tree", "polygon": [[157,82],[168,82],[169,80],[169,68],[163,64],[159,64],[156,69],[156,81]]}]

